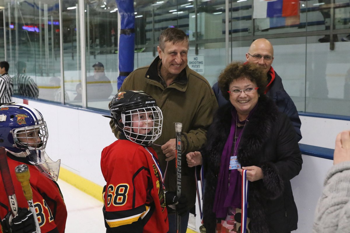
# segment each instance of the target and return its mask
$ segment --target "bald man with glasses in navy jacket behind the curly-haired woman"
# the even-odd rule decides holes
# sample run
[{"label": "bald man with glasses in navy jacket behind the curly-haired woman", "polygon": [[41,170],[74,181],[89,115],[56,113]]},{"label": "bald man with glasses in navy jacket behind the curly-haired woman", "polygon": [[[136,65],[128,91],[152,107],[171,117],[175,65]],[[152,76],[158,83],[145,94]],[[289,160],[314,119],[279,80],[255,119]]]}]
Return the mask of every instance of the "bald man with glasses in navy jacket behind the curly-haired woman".
[{"label": "bald man with glasses in navy jacket behind the curly-haired woman", "polygon": [[[273,62],[273,47],[272,44],[264,38],[256,39],[250,45],[248,52],[245,54],[247,62],[252,62],[260,67],[264,68],[267,73],[268,85],[265,90],[265,94],[269,96],[277,105],[280,112],[284,112],[292,121],[296,132],[296,140],[300,141],[300,118],[298,111],[296,110],[295,104],[290,96],[283,88],[282,79],[272,68]],[[219,103],[219,107],[225,105],[229,101],[224,98],[221,94],[218,83],[216,82],[212,87],[214,90],[216,99]]]}]

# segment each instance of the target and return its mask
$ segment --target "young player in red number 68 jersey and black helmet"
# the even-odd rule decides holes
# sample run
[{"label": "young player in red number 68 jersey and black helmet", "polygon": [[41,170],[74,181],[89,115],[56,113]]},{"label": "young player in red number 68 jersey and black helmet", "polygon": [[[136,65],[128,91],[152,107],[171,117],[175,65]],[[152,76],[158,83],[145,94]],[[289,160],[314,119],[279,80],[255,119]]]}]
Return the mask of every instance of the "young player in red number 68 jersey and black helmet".
[{"label": "young player in red number 68 jersey and black helmet", "polygon": [[[103,194],[106,232],[166,233],[166,204],[174,204],[177,197],[165,192],[158,156],[150,147],[161,135],[162,112],[151,96],[135,90],[114,96],[110,111],[121,134],[101,155],[107,182]],[[176,209],[181,214],[186,206],[181,206],[181,198],[179,203]]]}]

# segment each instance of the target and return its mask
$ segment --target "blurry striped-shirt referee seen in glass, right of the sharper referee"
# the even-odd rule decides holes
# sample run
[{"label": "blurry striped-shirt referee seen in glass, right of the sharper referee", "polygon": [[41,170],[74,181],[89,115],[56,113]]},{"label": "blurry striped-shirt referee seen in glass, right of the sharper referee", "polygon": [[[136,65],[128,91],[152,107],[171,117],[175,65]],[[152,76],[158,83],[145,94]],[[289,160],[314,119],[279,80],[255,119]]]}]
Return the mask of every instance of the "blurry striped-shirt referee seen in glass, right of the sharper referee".
[{"label": "blurry striped-shirt referee seen in glass, right of the sharper referee", "polygon": [[18,61],[16,65],[18,73],[12,78],[13,94],[37,98],[39,88],[34,80],[26,75],[27,64],[24,61]]}]

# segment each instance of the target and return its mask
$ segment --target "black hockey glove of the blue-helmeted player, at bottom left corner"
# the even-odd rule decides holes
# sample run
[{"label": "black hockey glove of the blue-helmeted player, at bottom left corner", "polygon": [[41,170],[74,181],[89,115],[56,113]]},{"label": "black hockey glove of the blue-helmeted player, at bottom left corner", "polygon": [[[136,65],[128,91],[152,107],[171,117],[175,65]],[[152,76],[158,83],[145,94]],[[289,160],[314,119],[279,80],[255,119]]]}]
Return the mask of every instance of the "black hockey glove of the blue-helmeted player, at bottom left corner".
[{"label": "black hockey glove of the blue-helmeted player, at bottom left corner", "polygon": [[8,212],[2,219],[1,225],[4,233],[36,232],[33,213],[26,208],[18,208],[18,213],[14,218],[12,218],[12,213]]}]

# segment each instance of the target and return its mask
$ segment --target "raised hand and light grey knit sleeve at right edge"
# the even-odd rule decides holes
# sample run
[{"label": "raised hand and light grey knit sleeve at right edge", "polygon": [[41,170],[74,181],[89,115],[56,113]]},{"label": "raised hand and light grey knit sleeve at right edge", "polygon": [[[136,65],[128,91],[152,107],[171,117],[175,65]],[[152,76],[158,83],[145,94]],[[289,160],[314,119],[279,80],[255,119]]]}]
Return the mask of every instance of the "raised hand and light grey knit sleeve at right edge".
[{"label": "raised hand and light grey knit sleeve at right edge", "polygon": [[350,131],[343,131],[335,139],[333,166],[324,180],[322,196],[318,200],[313,233],[350,232]]}]

